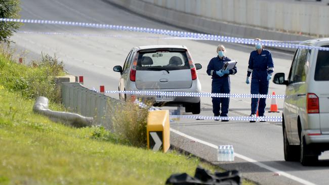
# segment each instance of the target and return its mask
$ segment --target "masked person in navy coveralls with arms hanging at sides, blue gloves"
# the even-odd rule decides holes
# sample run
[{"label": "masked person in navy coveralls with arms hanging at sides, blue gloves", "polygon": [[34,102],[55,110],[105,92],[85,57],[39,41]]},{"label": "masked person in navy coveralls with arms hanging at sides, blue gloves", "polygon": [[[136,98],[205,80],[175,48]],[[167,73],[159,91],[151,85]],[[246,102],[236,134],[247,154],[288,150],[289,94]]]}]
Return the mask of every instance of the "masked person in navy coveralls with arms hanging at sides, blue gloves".
[{"label": "masked person in navy coveralls with arms hanging at sides, blue gloves", "polygon": [[[259,38],[256,38],[255,40],[260,41]],[[251,94],[267,95],[269,80],[272,78],[272,73],[274,71],[274,63],[271,53],[267,50],[264,50],[260,43],[257,43],[255,47],[256,50],[250,54],[248,72],[245,83],[250,83],[249,78],[252,74]],[[256,117],[257,107],[258,115],[264,116],[266,98],[252,98],[252,110],[250,115],[251,117]]]}]

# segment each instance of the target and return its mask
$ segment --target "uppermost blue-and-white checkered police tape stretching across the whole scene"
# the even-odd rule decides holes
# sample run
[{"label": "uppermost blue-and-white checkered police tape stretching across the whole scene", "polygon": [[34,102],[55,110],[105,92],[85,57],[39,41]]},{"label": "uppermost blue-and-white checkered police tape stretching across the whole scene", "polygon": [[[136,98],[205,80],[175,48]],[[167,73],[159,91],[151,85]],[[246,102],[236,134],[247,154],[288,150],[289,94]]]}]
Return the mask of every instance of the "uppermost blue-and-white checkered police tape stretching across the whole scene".
[{"label": "uppermost blue-and-white checkered police tape stretching across the whole scene", "polygon": [[91,27],[91,28],[104,28],[111,30],[120,30],[120,31],[134,31],[134,32],[144,32],[144,33],[154,33],[162,35],[170,35],[176,37],[186,37],[186,38],[196,38],[202,40],[214,40],[222,42],[231,42],[231,43],[242,43],[242,44],[252,44],[261,43],[262,45],[268,47],[279,47],[279,48],[290,48],[290,49],[315,49],[322,51],[329,51],[329,48],[325,47],[313,47],[309,45],[295,44],[292,42],[284,41],[271,41],[271,40],[254,40],[248,38],[240,37],[229,37],[221,35],[212,35],[212,34],[202,34],[202,33],[193,33],[186,31],[175,31],[175,30],[165,30],[165,29],[155,29],[155,28],[144,28],[144,27],[133,27],[133,26],[122,26],[122,25],[109,25],[109,24],[96,24],[96,23],[83,23],[83,22],[71,22],[71,21],[51,21],[51,20],[31,20],[31,19],[10,19],[10,18],[0,18],[0,21],[3,22],[20,22],[20,23],[34,23],[34,24],[56,24],[56,25],[69,25],[69,26],[79,26],[79,27]]}]

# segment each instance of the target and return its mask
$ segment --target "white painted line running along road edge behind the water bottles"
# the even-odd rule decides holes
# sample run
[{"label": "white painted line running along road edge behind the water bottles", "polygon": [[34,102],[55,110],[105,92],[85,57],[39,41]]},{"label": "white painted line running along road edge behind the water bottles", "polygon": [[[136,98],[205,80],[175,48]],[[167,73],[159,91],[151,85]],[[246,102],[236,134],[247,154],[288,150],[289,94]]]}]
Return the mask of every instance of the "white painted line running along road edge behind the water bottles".
[{"label": "white painted line running along road edge behind the water bottles", "polygon": [[[174,133],[176,133],[176,134],[178,134],[178,135],[181,135],[181,136],[183,136],[183,137],[186,137],[186,138],[188,138],[188,139],[190,139],[190,140],[193,140],[193,141],[195,141],[195,142],[201,143],[201,144],[203,144],[203,145],[207,145],[207,146],[212,147],[212,148],[215,148],[215,149],[218,148],[217,145],[214,145],[214,144],[211,144],[211,143],[208,143],[208,142],[205,142],[205,141],[199,140],[199,139],[197,139],[197,138],[195,138],[195,137],[192,137],[192,136],[190,136],[190,135],[187,135],[187,134],[185,134],[185,133],[183,133],[183,132],[180,132],[180,131],[178,131],[178,130],[175,130],[175,129],[173,129],[173,128],[170,128],[170,131],[172,131],[172,132],[174,132]],[[266,164],[263,164],[263,163],[261,163],[261,162],[258,162],[258,161],[254,160],[254,159],[249,158],[249,157],[243,156],[243,155],[241,155],[241,154],[237,154],[237,153],[234,152],[234,156],[235,156],[235,157],[238,157],[238,158],[240,158],[240,159],[242,159],[242,160],[248,161],[248,162],[250,162],[250,163],[254,163],[254,164],[256,164],[257,166],[259,166],[259,167],[261,167],[261,168],[265,168],[265,169],[267,169],[267,170],[269,170],[269,171],[272,171],[272,172],[274,172],[274,173],[279,173],[279,174],[282,175],[282,176],[285,176],[285,177],[287,177],[287,178],[290,178],[290,179],[295,180],[295,181],[297,181],[297,182],[300,182],[300,183],[302,183],[302,184],[305,184],[305,185],[315,185],[315,183],[312,183],[312,182],[310,182],[310,181],[304,180],[304,179],[299,178],[299,177],[297,177],[297,176],[294,176],[294,175],[292,175],[292,174],[289,174],[289,173],[286,173],[286,172],[280,171],[280,170],[278,170],[278,169],[276,169],[276,168],[270,167],[270,166],[268,166],[268,165],[266,165]]]}]

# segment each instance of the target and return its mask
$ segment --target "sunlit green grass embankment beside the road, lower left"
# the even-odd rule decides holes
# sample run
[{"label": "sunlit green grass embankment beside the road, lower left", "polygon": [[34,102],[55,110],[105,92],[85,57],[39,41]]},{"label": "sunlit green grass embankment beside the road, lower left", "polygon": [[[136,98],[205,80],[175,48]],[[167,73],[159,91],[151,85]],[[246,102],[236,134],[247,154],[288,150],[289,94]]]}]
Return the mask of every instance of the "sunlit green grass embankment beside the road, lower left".
[{"label": "sunlit green grass embankment beside the road, lower left", "polygon": [[0,55],[0,184],[164,184],[172,173],[193,175],[197,165],[214,170],[175,152],[122,145],[102,127],[73,128],[34,114],[38,95],[53,97],[51,109],[61,109],[56,94],[36,84],[56,90],[49,69]]}]

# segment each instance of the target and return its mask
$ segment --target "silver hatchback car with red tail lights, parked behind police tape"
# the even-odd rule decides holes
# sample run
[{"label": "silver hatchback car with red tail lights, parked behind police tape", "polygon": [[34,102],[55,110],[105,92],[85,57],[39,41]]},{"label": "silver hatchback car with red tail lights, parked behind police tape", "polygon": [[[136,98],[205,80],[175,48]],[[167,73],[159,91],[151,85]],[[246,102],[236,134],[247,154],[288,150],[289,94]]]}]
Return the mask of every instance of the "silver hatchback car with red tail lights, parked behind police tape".
[{"label": "silver hatchback car with red tail lights, parked behind police tape", "polygon": [[[168,92],[201,92],[201,83],[196,70],[201,64],[193,60],[184,45],[149,45],[133,48],[120,72],[119,90],[147,90]],[[185,107],[185,112],[200,113],[200,97],[134,96],[119,94],[120,100],[143,98],[153,101],[155,106]]]}]

